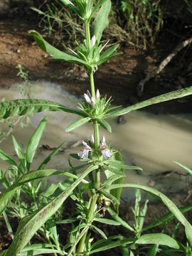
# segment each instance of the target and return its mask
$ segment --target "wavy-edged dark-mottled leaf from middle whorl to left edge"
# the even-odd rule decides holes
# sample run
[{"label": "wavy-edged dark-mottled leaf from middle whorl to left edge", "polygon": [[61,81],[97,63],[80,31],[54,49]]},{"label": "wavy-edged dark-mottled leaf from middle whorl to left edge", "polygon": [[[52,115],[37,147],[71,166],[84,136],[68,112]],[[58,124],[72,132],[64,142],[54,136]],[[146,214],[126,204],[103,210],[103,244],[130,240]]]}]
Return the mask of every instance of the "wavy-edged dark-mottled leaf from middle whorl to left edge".
[{"label": "wavy-edged dark-mottled leaf from middle whorl to left edge", "polygon": [[50,102],[48,100],[22,99],[0,103],[0,119],[6,119],[7,117],[22,116],[23,114],[34,114],[44,111],[62,111],[78,114],[82,117],[85,117],[85,114],[80,110],[65,107],[56,102]]}]

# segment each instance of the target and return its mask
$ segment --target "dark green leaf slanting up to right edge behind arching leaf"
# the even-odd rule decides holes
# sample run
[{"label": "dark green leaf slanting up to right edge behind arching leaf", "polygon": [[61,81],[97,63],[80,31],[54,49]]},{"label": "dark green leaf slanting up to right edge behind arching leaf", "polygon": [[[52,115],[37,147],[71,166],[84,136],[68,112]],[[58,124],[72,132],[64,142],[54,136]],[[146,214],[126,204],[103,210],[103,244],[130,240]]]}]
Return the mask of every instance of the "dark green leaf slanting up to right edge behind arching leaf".
[{"label": "dark green leaf slanting up to right edge behind arching leaf", "polygon": [[[189,210],[192,210],[192,206],[184,206],[181,208],[178,208],[178,210],[181,211],[181,213],[186,213]],[[174,219],[174,214],[173,213],[167,213],[166,215],[162,216],[161,218],[158,218],[157,220],[155,220],[153,223],[150,223],[149,225],[147,225],[146,227],[144,227],[142,229],[142,232],[149,230],[151,228],[155,228],[158,225],[163,225],[171,220]]]}]

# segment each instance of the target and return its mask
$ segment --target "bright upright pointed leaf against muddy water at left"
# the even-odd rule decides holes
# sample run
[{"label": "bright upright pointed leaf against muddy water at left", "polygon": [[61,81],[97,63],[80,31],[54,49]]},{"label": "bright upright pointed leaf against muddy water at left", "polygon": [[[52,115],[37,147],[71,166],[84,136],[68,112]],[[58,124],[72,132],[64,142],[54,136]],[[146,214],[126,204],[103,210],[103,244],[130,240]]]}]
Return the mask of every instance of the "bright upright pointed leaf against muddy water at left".
[{"label": "bright upright pointed leaf against muddy water at left", "polygon": [[38,124],[38,127],[36,128],[35,132],[31,136],[28,142],[28,145],[26,147],[26,166],[28,171],[32,164],[33,157],[36,154],[36,149],[42,137],[43,131],[46,128],[46,123],[47,123],[47,117],[43,118],[43,120],[41,120],[41,122]]}]

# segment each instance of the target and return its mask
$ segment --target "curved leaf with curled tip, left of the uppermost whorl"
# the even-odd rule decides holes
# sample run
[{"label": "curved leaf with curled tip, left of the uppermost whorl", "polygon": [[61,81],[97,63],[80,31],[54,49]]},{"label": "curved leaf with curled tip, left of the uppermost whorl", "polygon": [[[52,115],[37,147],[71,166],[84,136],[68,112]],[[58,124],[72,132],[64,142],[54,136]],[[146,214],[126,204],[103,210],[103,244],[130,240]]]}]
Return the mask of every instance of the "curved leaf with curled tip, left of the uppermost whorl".
[{"label": "curved leaf with curled tip, left of the uppermost whorl", "polygon": [[88,63],[78,58],[78,56],[76,56],[75,53],[63,53],[63,51],[51,46],[46,40],[43,39],[43,37],[37,31],[29,31],[29,35],[34,36],[38,46],[55,60],[62,60],[67,63],[83,65],[88,69],[91,68]]}]

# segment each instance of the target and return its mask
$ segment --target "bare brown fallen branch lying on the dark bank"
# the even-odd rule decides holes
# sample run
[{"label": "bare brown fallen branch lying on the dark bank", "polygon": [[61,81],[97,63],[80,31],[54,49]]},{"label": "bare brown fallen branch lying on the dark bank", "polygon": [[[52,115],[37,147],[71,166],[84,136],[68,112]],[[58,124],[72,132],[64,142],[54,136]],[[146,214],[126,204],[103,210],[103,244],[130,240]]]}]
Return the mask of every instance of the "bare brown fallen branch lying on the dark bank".
[{"label": "bare brown fallen branch lying on the dark bank", "polygon": [[192,43],[192,37],[188,38],[187,40],[181,42],[176,46],[176,48],[160,63],[159,67],[156,69],[152,70],[150,73],[146,75],[146,77],[139,82],[137,85],[137,95],[141,96],[142,92],[144,91],[144,85],[146,82],[149,82],[151,78],[154,78],[156,75],[158,75],[164,68],[165,66],[174,58],[174,56],[184,47],[188,46],[188,44]]}]

